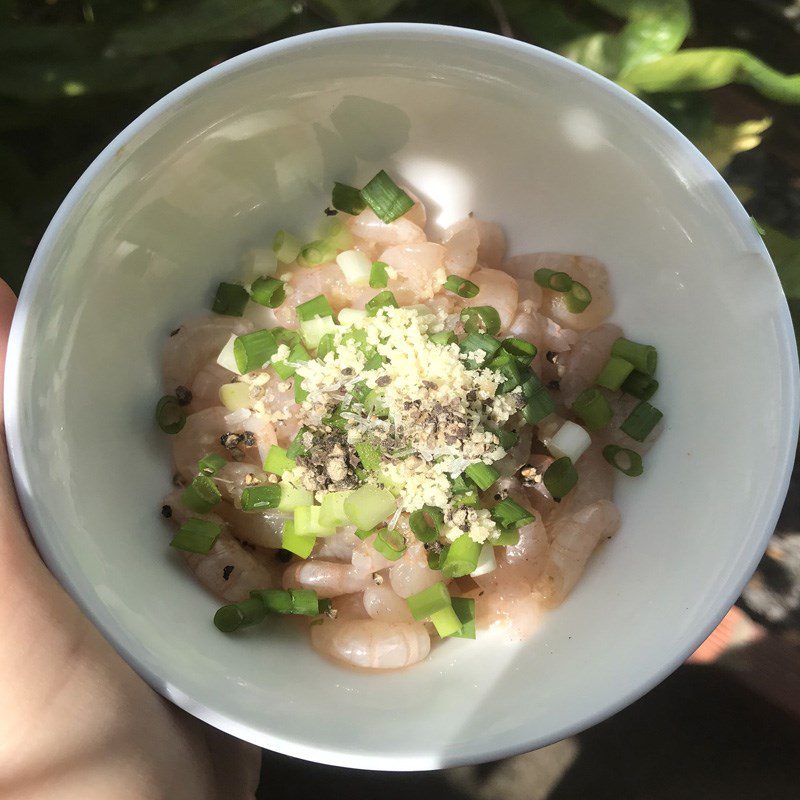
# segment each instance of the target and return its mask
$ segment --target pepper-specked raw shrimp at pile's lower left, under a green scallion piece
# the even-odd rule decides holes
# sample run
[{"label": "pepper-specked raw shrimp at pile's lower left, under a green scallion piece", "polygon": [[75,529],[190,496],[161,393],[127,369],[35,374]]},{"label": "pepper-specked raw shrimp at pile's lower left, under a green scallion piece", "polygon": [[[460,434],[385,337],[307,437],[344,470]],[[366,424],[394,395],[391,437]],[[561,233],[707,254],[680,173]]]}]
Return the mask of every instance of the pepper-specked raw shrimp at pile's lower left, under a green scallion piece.
[{"label": "pepper-specked raw shrimp at pile's lower left, under a green scallion piece", "polygon": [[180,494],[178,490],[164,499],[165,505],[172,510],[172,520],[175,523],[180,525],[190,517],[199,517],[223,525],[217,541],[208,553],[181,551],[189,570],[206,589],[217,597],[235,603],[246,600],[253,589],[280,586],[282,564],[259,558],[257,551],[247,549],[216,514],[190,512],[181,502]]}]

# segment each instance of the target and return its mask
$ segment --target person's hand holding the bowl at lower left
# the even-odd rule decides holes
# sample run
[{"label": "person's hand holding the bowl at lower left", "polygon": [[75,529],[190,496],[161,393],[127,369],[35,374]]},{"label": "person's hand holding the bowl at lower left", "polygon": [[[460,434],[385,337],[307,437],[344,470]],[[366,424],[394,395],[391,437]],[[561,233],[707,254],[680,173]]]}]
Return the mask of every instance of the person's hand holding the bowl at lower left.
[{"label": "person's hand holding the bowl at lower left", "polygon": [[[16,300],[0,281],[2,375]],[[48,572],[0,436],[0,797],[244,800],[260,751],[157,695]]]}]

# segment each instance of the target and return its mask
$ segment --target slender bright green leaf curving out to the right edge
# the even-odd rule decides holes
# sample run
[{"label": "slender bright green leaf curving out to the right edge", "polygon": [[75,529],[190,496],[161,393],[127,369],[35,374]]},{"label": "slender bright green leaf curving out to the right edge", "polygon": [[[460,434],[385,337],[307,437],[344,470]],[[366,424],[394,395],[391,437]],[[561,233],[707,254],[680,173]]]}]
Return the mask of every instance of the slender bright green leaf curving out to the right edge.
[{"label": "slender bright green leaf curving out to the right edge", "polygon": [[698,91],[744,83],[772,100],[800,103],[800,73],[784,75],[745,50],[694,48],[639,64],[620,83],[634,92]]}]

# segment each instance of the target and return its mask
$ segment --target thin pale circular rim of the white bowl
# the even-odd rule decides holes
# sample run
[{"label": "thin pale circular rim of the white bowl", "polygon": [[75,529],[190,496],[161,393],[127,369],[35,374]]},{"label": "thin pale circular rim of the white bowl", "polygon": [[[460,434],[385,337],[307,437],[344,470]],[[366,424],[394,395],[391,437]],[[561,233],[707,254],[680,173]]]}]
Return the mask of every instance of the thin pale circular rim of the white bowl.
[{"label": "thin pale circular rim of the white bowl", "polygon": [[[586,728],[607,719],[617,711],[628,706],[680,666],[686,658],[708,637],[717,626],[728,609],[734,604],[742,588],[755,571],[756,566],[764,552],[767,542],[772,535],[781,510],[783,498],[788,490],[789,480],[794,463],[794,453],[798,437],[798,419],[800,418],[800,403],[798,401],[798,359],[796,344],[792,346],[794,331],[789,314],[788,305],[784,299],[780,304],[780,312],[775,323],[778,330],[785,336],[788,343],[787,358],[782,360],[781,379],[786,391],[785,398],[788,402],[782,410],[784,424],[789,435],[786,447],[781,454],[780,462],[776,464],[776,473],[780,481],[776,484],[777,491],[773,495],[773,508],[765,521],[760,537],[755,535],[750,543],[750,556],[747,569],[741,572],[721,592],[717,603],[705,614],[705,622],[696,628],[693,636],[687,636],[678,647],[671,659],[663,663],[660,668],[641,676],[635,685],[630,686],[621,694],[615,694],[612,700],[602,703],[598,707],[587,709],[578,719],[554,728],[546,735],[520,736],[510,741],[504,747],[480,747],[474,744],[460,745],[439,754],[417,753],[388,758],[385,755],[356,752],[346,748],[335,749],[317,745],[309,745],[303,741],[286,738],[279,732],[271,732],[263,727],[254,728],[248,724],[228,716],[219,708],[202,705],[185,694],[178,686],[171,684],[158,669],[152,668],[139,657],[138,653],[125,643],[122,626],[108,615],[102,607],[93,607],[83,595],[77,577],[73,577],[67,568],[59,563],[55,551],[49,544],[47,528],[39,518],[37,504],[31,491],[31,468],[25,454],[24,429],[23,429],[23,398],[21,397],[20,375],[24,369],[23,343],[26,335],[27,323],[31,310],[36,303],[37,294],[42,284],[47,280],[47,266],[57,239],[64,223],[69,219],[81,198],[91,188],[95,179],[102,175],[106,167],[116,158],[118,152],[128,145],[140,132],[145,130],[152,122],[161,117],[169,109],[177,106],[184,98],[191,97],[201,91],[210,83],[218,79],[239,72],[243,68],[258,62],[266,62],[275,57],[303,48],[304,46],[328,40],[352,40],[370,38],[373,35],[391,35],[394,37],[410,36],[424,38],[428,41],[462,41],[470,45],[483,45],[489,48],[499,48],[511,55],[525,57],[529,60],[543,62],[551,67],[565,70],[572,74],[574,79],[593,83],[604,93],[623,106],[644,116],[650,125],[654,125],[675,142],[676,147],[689,159],[690,165],[708,179],[707,188],[730,214],[731,220],[740,229],[750,225],[749,215],[716,169],[706,160],[699,150],[667,120],[647,106],[639,98],[628,93],[607,78],[592,72],[586,67],[576,64],[568,59],[544,50],[526,42],[509,39],[494,33],[470,30],[447,25],[433,25],[421,23],[374,23],[363,25],[349,25],[337,28],[328,28],[298,36],[288,37],[272,42],[222,62],[199,75],[181,84],[160,100],[142,112],[136,119],[128,124],[92,161],[86,171],[81,175],[73,188],[62,201],[53,219],[48,225],[42,239],[31,260],[30,267],[25,277],[20,293],[14,320],[8,340],[8,351],[5,368],[5,429],[9,450],[12,474],[16,484],[17,493],[25,518],[31,530],[36,547],[48,568],[55,575],[64,589],[78,603],[82,611],[101,631],[102,635],[112,644],[125,661],[157,692],[178,705],[184,711],[207,722],[215,728],[250,741],[261,747],[285,755],[328,764],[338,767],[351,767],[358,769],[373,769],[385,771],[412,771],[444,769],[447,767],[464,764],[482,763],[493,761],[519,753],[544,747],[571,736]],[[759,243],[760,255],[772,265],[772,260],[764,246]],[[774,265],[773,265],[774,269]],[[35,459],[32,459],[35,460]]]}]

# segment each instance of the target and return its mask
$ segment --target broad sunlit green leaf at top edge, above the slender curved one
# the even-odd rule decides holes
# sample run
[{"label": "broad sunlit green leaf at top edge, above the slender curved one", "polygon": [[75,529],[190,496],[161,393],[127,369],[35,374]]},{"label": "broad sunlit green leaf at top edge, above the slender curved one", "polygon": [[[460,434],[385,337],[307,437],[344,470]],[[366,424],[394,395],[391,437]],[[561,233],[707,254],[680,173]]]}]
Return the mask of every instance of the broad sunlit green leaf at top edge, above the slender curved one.
[{"label": "broad sunlit green leaf at top edge, above the slender curved one", "polygon": [[692,25],[688,0],[592,0],[627,20],[619,33],[591,33],[569,42],[562,55],[618,79],[639,64],[675,53]]}]

